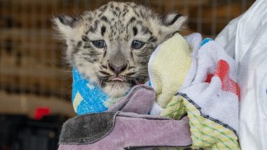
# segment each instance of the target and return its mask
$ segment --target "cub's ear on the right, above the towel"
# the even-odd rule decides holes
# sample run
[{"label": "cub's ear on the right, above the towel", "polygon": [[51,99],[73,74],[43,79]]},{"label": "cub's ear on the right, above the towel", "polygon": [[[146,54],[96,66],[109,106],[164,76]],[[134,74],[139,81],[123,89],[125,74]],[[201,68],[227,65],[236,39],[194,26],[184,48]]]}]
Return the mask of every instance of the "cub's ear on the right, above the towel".
[{"label": "cub's ear on the right, above the towel", "polygon": [[179,13],[169,13],[161,17],[161,29],[166,38],[184,28],[186,17]]}]

